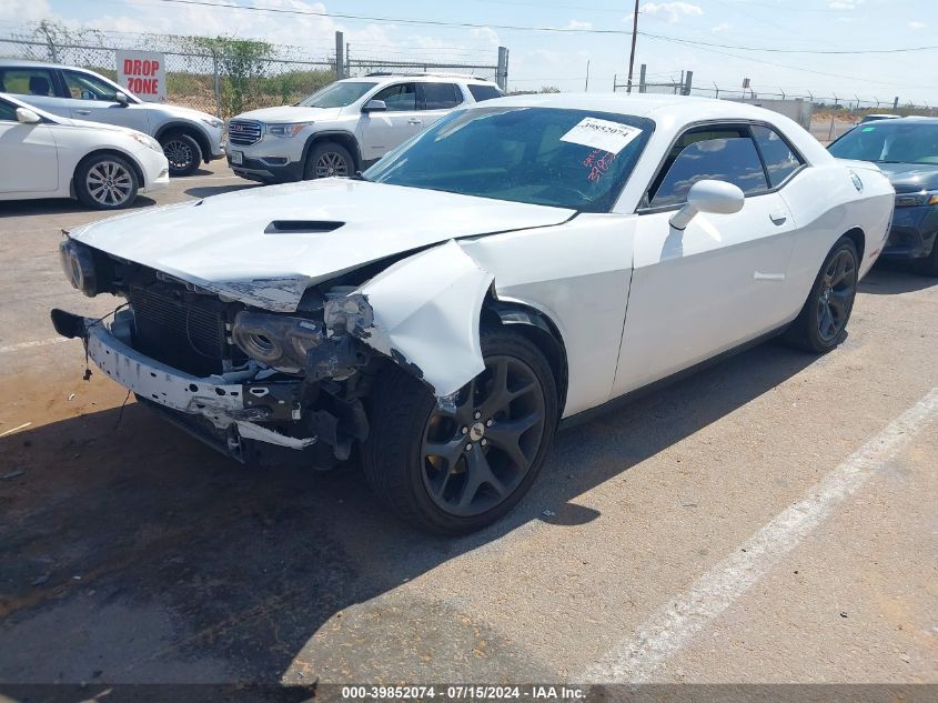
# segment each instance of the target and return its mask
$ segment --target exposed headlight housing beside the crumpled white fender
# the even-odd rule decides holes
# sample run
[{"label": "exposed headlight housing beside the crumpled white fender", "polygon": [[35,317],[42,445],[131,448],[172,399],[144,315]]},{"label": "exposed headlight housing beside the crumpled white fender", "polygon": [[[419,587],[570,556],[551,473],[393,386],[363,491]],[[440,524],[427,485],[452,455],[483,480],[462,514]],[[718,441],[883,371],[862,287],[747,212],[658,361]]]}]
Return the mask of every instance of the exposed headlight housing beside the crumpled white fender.
[{"label": "exposed headlight housing beside the crumpled white fender", "polygon": [[231,339],[251,359],[272,369],[296,373],[306,368],[310,350],[323,342],[313,320],[242,310],[234,318]]}]

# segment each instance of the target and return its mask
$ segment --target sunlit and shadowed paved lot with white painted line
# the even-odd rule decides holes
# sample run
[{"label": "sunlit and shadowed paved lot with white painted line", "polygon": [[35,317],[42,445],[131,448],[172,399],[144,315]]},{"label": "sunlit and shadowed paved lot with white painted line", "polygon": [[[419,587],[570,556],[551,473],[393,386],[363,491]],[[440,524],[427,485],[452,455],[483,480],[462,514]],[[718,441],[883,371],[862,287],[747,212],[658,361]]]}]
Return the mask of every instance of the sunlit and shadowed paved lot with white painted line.
[{"label": "sunlit and shadowed paved lot with white painted line", "polygon": [[117,305],[59,269],[98,217],[0,203],[0,682],[938,683],[934,280],[878,265],[831,354],[765,344],[562,432],[507,520],[441,540],[354,465],[246,469],[82,381],[48,311]]}]

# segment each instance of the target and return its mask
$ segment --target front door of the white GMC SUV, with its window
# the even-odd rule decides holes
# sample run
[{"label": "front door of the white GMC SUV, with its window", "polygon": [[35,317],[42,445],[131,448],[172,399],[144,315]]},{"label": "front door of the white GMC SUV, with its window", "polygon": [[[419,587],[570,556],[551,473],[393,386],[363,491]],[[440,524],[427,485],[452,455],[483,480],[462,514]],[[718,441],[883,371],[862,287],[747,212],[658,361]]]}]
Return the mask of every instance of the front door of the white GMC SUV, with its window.
[{"label": "front door of the white GMC SUV, with its window", "polygon": [[393,83],[369,100],[382,100],[387,110],[363,112],[359,121],[359,144],[365,161],[380,159],[420,131],[416,83]]}]

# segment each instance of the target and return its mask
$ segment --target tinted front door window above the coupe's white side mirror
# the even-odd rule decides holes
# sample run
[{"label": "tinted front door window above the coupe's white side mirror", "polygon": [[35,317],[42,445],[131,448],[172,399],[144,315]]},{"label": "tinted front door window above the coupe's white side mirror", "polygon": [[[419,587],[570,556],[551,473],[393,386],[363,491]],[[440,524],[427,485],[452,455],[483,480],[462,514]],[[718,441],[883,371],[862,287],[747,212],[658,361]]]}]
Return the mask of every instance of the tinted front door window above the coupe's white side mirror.
[{"label": "tinted front door window above the coupe's white side mirror", "polygon": [[649,205],[679,205],[690,187],[706,179],[733,183],[746,194],[768,189],[747,128],[704,128],[682,134],[649,189]]}]

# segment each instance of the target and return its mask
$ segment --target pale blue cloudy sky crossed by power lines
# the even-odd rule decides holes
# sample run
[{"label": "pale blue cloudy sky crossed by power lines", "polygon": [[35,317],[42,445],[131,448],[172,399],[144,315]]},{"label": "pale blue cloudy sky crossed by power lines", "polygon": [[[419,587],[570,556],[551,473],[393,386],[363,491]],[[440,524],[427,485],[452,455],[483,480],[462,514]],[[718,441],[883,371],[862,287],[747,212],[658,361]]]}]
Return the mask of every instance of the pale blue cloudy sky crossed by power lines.
[{"label": "pale blue cloudy sky crossed by power lines", "polygon": [[[160,2],[159,0],[0,0],[0,33],[52,18],[74,27],[115,31],[236,34],[300,44],[327,54],[341,29],[356,56],[495,62],[511,50],[510,88],[556,86],[608,91],[627,70],[629,37],[516,31],[491,26],[631,31],[629,0],[206,0],[363,14],[470,22],[480,28],[428,27],[346,18],[284,16]],[[770,49],[870,50],[938,44],[935,0],[680,0],[639,2],[639,31],[693,41]],[[817,56],[698,47],[639,36],[639,63],[656,78],[694,71],[694,83],[758,91],[805,92],[854,99],[938,104],[938,50],[911,53]]]}]

